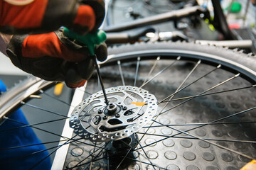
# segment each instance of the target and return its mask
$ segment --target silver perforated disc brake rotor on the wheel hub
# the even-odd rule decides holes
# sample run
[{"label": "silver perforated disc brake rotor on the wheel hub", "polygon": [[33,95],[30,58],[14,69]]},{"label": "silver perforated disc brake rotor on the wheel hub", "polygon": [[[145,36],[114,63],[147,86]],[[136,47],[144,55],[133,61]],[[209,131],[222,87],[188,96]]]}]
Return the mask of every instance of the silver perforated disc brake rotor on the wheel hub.
[{"label": "silver perforated disc brake rotor on the wheel hub", "polygon": [[117,86],[86,98],[73,110],[70,127],[92,142],[121,140],[138,132],[156,114],[156,97],[144,89]]}]

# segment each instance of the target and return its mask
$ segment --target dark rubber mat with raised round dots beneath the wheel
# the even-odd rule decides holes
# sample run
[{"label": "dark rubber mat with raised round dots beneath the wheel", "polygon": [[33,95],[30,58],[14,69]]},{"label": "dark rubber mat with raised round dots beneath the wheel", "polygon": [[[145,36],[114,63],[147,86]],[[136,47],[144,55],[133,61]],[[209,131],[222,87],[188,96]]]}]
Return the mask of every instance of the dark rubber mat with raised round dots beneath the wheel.
[{"label": "dark rubber mat with raised round dots beneath the wheel", "polygon": [[[159,67],[156,67],[153,75],[167,64],[168,62],[161,62]],[[142,84],[150,67],[151,64],[149,62],[141,63],[138,85]],[[193,64],[181,62],[166,70],[166,72],[144,86],[143,89],[154,94],[161,101],[162,98],[176,91],[191,68],[193,68]],[[213,68],[202,64],[193,72],[183,86],[186,86],[194,79],[198,79],[198,77]],[[122,69],[125,84],[133,85],[136,63],[123,64]],[[106,88],[122,85],[118,67],[112,67],[111,70],[102,68],[102,73],[105,76],[103,81]],[[225,70],[217,70],[192,86],[188,86],[188,88],[176,94],[174,98],[195,96],[234,75]],[[92,93],[98,91],[98,86],[93,85],[93,83],[97,84],[97,79],[90,80],[87,86],[87,91],[92,91]],[[222,86],[208,91],[208,93],[251,85],[241,77],[237,77]],[[137,133],[138,140],[140,140],[139,145],[133,152],[127,154],[123,162],[122,159],[126,156],[126,152],[119,155],[111,155],[100,148],[105,146],[105,142],[97,143],[97,147],[94,147],[94,143],[82,139],[70,145],[65,168],[72,168],[79,164],[80,166],[73,169],[116,169],[119,162],[122,162],[118,169],[235,170],[250,162],[250,159],[215,146],[212,143],[233,149],[250,157],[256,157],[256,111],[240,113],[255,107],[255,88],[195,97],[193,100],[178,106],[183,101],[186,101],[186,99],[171,101],[164,108],[164,111],[168,109],[170,111],[159,115],[152,125],[148,123],[146,127],[151,125],[148,131],[146,131],[147,128],[142,128]],[[161,103],[159,105],[159,111],[164,107],[164,104]],[[237,114],[230,118],[219,120],[234,113]],[[206,125],[207,123],[211,124]],[[181,133],[176,135],[180,133],[179,130],[188,130],[188,134]],[[144,132],[146,134],[142,137]],[[85,145],[85,143],[89,145]],[[142,147],[143,149],[140,149]],[[156,166],[152,166],[152,164]]]}]

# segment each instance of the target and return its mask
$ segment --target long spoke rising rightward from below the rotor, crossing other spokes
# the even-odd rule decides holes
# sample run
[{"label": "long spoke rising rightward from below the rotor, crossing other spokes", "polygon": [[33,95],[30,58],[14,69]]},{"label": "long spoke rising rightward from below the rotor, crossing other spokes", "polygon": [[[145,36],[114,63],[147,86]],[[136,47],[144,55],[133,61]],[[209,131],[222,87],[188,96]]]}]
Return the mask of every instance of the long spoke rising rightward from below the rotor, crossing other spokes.
[{"label": "long spoke rising rightward from below the rotor, crossing other spokes", "polygon": [[[219,122],[219,121],[221,121],[221,120],[225,120],[225,119],[227,119],[227,118],[231,118],[231,117],[233,117],[233,116],[235,116],[235,115],[240,115],[240,114],[242,114],[242,113],[246,113],[246,112],[248,112],[248,111],[252,111],[252,110],[254,110],[256,108],[256,106],[254,107],[254,108],[249,108],[249,109],[247,109],[247,110],[245,110],[245,111],[240,111],[240,112],[238,112],[238,113],[234,113],[234,114],[232,114],[232,115],[228,115],[228,116],[225,116],[225,117],[223,117],[223,118],[220,118],[220,119],[217,119],[217,120],[213,120],[212,122],[210,122],[210,123],[206,123],[206,124],[203,124],[203,125],[199,125],[199,126],[197,126],[196,128],[191,128],[191,129],[188,129],[188,130],[185,130],[184,132],[189,132],[189,131],[191,131],[191,130],[196,130],[196,129],[198,129],[198,128],[202,128],[203,126],[206,126],[206,125],[211,125],[212,123],[216,123],[216,122]],[[154,120],[153,120],[154,121]],[[168,126],[169,127],[169,126]],[[166,140],[166,139],[169,139],[170,137],[175,137],[176,135],[180,135],[182,132],[178,132],[178,133],[176,133],[176,134],[174,134],[174,135],[170,135],[169,137],[165,137],[164,139],[161,139],[161,140],[157,140],[157,141],[155,141],[155,142],[151,142],[150,144],[148,144],[148,145],[144,145],[143,147],[148,147],[149,145],[153,145],[153,144],[155,144],[155,143],[158,143],[158,142],[161,142],[161,141],[163,141],[163,140]],[[138,149],[141,149],[141,148],[138,148]],[[138,149],[136,149],[136,150],[138,150]]]}]

